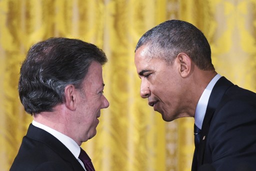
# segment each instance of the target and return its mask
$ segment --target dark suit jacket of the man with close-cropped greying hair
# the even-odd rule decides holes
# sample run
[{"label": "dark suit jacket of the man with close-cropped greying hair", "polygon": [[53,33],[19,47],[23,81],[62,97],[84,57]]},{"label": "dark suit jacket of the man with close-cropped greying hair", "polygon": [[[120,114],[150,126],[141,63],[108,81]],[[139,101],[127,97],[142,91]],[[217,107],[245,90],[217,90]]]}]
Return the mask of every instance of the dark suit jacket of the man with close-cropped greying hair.
[{"label": "dark suit jacket of the man with close-cropped greying hair", "polygon": [[198,166],[216,170],[256,169],[256,93],[221,77],[202,123]]}]

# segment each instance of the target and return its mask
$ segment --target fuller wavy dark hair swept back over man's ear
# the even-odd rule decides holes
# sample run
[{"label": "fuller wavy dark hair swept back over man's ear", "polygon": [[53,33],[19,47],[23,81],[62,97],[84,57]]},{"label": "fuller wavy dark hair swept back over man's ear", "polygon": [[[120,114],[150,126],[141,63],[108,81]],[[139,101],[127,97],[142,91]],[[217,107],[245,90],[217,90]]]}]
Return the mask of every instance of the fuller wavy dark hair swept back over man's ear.
[{"label": "fuller wavy dark hair swept back over man's ear", "polygon": [[18,92],[26,112],[52,111],[64,102],[64,88],[80,85],[92,61],[103,65],[107,58],[96,45],[79,39],[51,37],[28,50],[20,68]]}]

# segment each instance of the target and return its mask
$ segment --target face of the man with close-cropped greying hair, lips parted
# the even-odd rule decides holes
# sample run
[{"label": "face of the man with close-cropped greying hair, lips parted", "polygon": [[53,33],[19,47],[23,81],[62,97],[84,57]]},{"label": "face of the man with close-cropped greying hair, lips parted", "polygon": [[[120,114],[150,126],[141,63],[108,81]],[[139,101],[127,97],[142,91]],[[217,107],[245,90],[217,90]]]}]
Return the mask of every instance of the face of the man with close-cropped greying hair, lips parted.
[{"label": "face of the man with close-cropped greying hair, lips parted", "polygon": [[135,66],[141,79],[140,96],[148,99],[148,105],[162,114],[165,121],[183,117],[183,90],[178,65],[148,57],[147,46],[135,52]]}]

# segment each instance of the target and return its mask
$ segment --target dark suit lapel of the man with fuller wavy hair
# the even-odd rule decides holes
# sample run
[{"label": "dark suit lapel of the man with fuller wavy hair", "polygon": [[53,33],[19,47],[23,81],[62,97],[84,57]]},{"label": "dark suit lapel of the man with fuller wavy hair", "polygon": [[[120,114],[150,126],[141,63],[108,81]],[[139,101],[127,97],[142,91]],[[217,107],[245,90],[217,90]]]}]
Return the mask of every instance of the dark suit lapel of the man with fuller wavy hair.
[{"label": "dark suit lapel of the man with fuller wavy hair", "polygon": [[47,131],[30,124],[26,136],[45,143],[63,160],[65,160],[67,163],[70,163],[73,167],[73,170],[84,170],[78,160],[71,153],[71,151],[62,142],[60,142]]}]

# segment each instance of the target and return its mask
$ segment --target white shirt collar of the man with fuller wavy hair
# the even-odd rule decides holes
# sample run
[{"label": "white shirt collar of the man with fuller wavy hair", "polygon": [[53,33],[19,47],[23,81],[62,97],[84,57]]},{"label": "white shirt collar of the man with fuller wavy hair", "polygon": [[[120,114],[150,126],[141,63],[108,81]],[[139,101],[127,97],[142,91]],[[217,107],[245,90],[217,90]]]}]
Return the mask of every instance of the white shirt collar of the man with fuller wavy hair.
[{"label": "white shirt collar of the man with fuller wavy hair", "polygon": [[[72,138],[66,136],[63,133],[60,133],[59,131],[57,131],[55,129],[45,126],[44,124],[38,123],[35,120],[32,121],[32,124],[36,127],[39,127],[41,129],[49,132],[54,137],[56,137],[60,142],[62,142],[71,151],[71,153],[74,155],[74,157],[79,161],[79,163],[84,168],[82,161],[78,158],[78,156],[80,154],[80,147]],[[85,168],[84,168],[84,170],[86,171]]]}]

